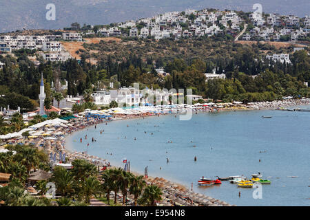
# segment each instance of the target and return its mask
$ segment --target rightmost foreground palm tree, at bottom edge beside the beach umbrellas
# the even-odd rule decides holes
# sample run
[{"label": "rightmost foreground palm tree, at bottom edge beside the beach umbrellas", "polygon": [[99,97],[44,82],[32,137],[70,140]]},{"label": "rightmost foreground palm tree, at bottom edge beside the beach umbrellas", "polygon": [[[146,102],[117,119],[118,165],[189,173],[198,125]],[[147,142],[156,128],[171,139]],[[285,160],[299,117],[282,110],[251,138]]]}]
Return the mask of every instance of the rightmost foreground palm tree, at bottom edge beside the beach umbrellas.
[{"label": "rightmost foreground palm tree, at bottom edge beside the beach umbrellas", "polygon": [[156,185],[149,185],[145,187],[143,195],[139,200],[139,203],[146,204],[147,206],[156,206],[155,201],[161,201],[161,189]]}]

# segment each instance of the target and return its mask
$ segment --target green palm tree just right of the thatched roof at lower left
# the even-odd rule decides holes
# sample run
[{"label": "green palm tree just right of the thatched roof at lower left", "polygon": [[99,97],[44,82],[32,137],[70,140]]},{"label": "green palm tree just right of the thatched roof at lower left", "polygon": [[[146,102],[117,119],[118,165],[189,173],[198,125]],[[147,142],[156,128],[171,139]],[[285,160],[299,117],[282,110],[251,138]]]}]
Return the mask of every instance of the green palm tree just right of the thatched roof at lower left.
[{"label": "green palm tree just right of the thatched roof at lower left", "polygon": [[61,195],[66,196],[74,192],[76,183],[74,181],[74,175],[61,166],[54,168],[53,179],[56,184],[56,189]]}]

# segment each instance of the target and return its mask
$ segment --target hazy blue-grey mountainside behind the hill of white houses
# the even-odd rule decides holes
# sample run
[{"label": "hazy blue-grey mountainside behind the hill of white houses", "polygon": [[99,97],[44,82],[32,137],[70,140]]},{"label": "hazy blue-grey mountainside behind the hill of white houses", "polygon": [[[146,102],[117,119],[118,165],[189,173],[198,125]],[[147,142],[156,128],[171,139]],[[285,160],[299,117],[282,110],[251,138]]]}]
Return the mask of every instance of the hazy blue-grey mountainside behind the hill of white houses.
[{"label": "hazy blue-grey mountainside behind the hill of white houses", "polygon": [[[1,0],[0,32],[24,29],[58,29],[70,27],[73,22],[86,24],[107,24],[143,17],[152,17],[169,11],[183,11],[187,8],[200,10],[254,11],[252,5],[261,3],[263,12],[295,14],[304,17],[309,14],[309,0]],[[47,21],[45,9],[48,3],[56,5],[56,21]]]}]

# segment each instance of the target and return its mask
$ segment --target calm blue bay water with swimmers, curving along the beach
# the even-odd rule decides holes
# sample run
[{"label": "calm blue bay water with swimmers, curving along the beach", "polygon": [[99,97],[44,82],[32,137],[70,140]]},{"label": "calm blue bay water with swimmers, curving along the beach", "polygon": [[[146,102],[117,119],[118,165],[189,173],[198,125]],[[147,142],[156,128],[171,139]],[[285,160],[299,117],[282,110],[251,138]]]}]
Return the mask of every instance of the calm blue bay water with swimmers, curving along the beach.
[{"label": "calm blue bay water with swimmers, curving along the beach", "polygon": [[[262,115],[273,117],[263,119]],[[125,157],[138,173],[143,174],[148,166],[149,176],[164,177],[187,188],[193,183],[195,192],[237,206],[310,205],[309,112],[229,111],[198,113],[189,121],[174,115],[120,120],[99,124],[96,129],[89,127],[67,139],[73,151],[85,151],[87,142],[90,155],[108,159],[113,165],[123,166]],[[258,172],[265,178],[280,177],[268,178],[271,185],[262,186],[262,199],[252,197],[254,188],[237,188],[228,181],[221,186],[196,186],[201,176],[251,177]]]}]

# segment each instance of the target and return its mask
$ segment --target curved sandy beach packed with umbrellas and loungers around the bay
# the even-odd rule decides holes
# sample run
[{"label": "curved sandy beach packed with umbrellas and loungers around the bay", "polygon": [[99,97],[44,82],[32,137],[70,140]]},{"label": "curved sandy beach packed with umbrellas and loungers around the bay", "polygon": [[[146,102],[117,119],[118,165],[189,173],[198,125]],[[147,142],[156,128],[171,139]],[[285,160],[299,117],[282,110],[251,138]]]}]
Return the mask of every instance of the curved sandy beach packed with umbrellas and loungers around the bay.
[{"label": "curved sandy beach packed with umbrellas and loungers around the bay", "polygon": [[[221,105],[217,104],[217,107],[214,108],[206,108],[203,105],[196,105],[191,111],[194,112],[213,112],[213,111],[235,111],[235,110],[258,110],[258,109],[280,109],[282,107],[296,106],[300,104],[309,104],[309,100],[289,100],[282,102],[257,102],[257,103],[249,103],[247,105],[244,104],[236,104],[234,106],[221,107]],[[175,113],[184,113],[187,109],[179,108],[175,111]],[[171,111],[173,113],[173,111]],[[85,131],[87,135],[87,130],[90,127],[99,126],[99,124],[109,124],[116,120],[128,120],[128,119],[141,119],[145,117],[160,117],[160,115],[169,115],[168,113],[136,113],[136,114],[126,114],[126,113],[118,113],[114,115],[114,118],[110,118],[109,120],[101,120],[98,118],[85,118],[85,116],[80,116],[78,118],[74,118],[69,122],[59,122],[56,123],[56,126],[48,126],[49,124],[45,124],[44,126],[38,127],[35,133],[32,133],[34,138],[27,139],[17,139],[13,140],[12,143],[23,143],[23,144],[34,144],[40,150],[45,150],[48,154],[53,153],[65,153],[66,157],[70,161],[73,159],[87,159],[99,166],[99,170],[102,170],[105,166],[107,168],[114,168],[117,166],[113,166],[110,164],[107,158],[97,157],[96,155],[90,155],[88,152],[82,151],[70,151],[68,147],[65,145],[65,140],[67,137],[72,135],[76,131]],[[59,125],[60,124],[60,125]],[[107,126],[108,127],[108,126]],[[50,133],[48,133],[50,131]],[[41,132],[42,135],[39,135]],[[98,133],[101,132],[98,130]],[[50,135],[44,136],[44,133],[48,133]],[[35,137],[35,135],[38,135]],[[48,138],[48,137],[52,138]],[[87,138],[87,141],[86,141]],[[81,141],[83,142],[91,142],[92,137],[81,137]],[[42,147],[44,146],[44,148]],[[59,162],[61,163],[61,162]],[[119,166],[118,166],[119,167]],[[139,173],[135,173],[136,175],[141,175]],[[169,179],[169,178],[168,178]],[[147,177],[145,181],[147,184],[156,184],[163,190],[163,201],[158,203],[159,206],[231,206],[229,203],[221,201],[219,199],[214,199],[207,195],[203,195],[201,193],[193,192],[189,188],[185,187],[183,184],[177,184],[176,182],[169,181],[168,179],[164,179],[163,177]],[[130,199],[130,198],[129,198]]]}]

